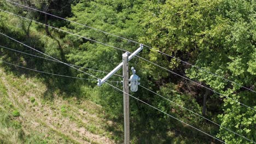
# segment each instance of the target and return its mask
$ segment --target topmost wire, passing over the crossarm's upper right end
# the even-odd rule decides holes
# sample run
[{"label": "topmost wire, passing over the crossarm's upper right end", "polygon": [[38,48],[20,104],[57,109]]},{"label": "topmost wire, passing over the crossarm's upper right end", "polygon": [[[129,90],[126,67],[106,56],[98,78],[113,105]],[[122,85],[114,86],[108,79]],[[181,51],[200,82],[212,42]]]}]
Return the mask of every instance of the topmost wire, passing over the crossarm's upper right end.
[{"label": "topmost wire, passing over the crossarm's upper right end", "polygon": [[[75,23],[75,24],[80,25],[80,26],[84,26],[84,27],[88,27],[88,28],[94,29],[95,31],[99,31],[99,32],[102,32],[102,33],[105,33],[105,34],[112,35],[112,36],[114,36],[114,37],[118,37],[118,38],[121,38],[121,39],[124,39],[124,40],[127,40],[127,41],[131,41],[131,42],[136,43],[136,44],[140,44],[140,43],[138,43],[138,41],[134,41],[134,40],[130,40],[130,39],[127,39],[127,38],[124,38],[124,37],[120,37],[120,36],[118,36],[118,35],[115,35],[115,34],[112,34],[112,33],[108,33],[108,32],[106,32],[106,31],[102,31],[101,29],[97,29],[97,28],[94,28],[94,27],[90,27],[90,26],[87,26],[87,25],[83,25],[83,24],[78,23],[78,22],[75,22],[75,21],[71,21],[71,20],[68,20],[68,19],[64,19],[64,18],[62,18],[62,17],[60,17],[60,16],[56,16],[56,15],[53,15],[53,14],[46,13],[45,11],[41,11],[41,10],[38,10],[38,9],[34,9],[34,8],[31,8],[31,7],[27,7],[26,5],[22,5],[22,4],[19,4],[19,3],[16,3],[16,2],[11,2],[11,1],[8,1],[8,0],[7,0],[7,2],[10,2],[10,3],[13,3],[13,4],[19,5],[19,6],[21,6],[21,7],[25,7],[25,8],[28,8],[28,9],[36,10],[36,11],[39,11],[40,13],[48,14],[48,15],[57,17],[57,18],[59,18],[59,19],[62,19],[62,20],[66,20],[66,21]],[[154,50],[154,51],[157,51],[157,52],[161,53],[162,55],[166,55],[166,56],[168,56],[168,57],[172,57],[172,58],[174,58],[174,59],[177,59],[178,61],[181,61],[181,62],[183,62],[183,63],[185,63],[185,64],[188,64],[188,65],[190,65],[191,67],[200,69],[200,70],[202,70],[202,71],[205,71],[205,72],[208,73],[208,74],[217,76],[217,77],[219,77],[219,78],[221,78],[221,79],[223,79],[223,80],[229,81],[229,82],[231,82],[231,83],[234,83],[234,84],[237,85],[237,86],[243,87],[243,88],[245,88],[245,89],[247,89],[247,90],[249,90],[249,91],[252,91],[252,92],[256,93],[256,91],[253,91],[253,89],[250,89],[250,88],[247,88],[247,87],[245,87],[245,86],[242,86],[242,85],[240,85],[239,83],[236,83],[236,82],[234,82],[234,81],[228,80],[228,79],[226,79],[225,77],[222,77],[222,76],[219,76],[219,75],[217,75],[217,74],[212,73],[211,71],[207,71],[207,70],[205,70],[205,69],[203,69],[203,68],[197,67],[196,65],[190,64],[190,63],[188,63],[188,62],[183,61],[182,59],[179,59],[179,58],[176,58],[176,57],[174,57],[174,56],[168,55],[167,53],[161,52],[161,51],[159,51],[159,50],[157,50],[157,49],[154,49],[153,47],[150,47],[150,46],[147,46],[147,45],[144,45],[144,46],[146,46],[146,47],[148,47],[149,49],[152,49],[152,50]]]}]

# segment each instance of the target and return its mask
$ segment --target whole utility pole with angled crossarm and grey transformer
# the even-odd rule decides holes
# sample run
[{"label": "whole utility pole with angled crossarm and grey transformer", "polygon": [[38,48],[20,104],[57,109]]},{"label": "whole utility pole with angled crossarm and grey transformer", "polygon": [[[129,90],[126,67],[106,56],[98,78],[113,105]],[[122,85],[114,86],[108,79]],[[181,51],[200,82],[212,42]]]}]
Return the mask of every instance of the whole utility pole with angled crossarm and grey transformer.
[{"label": "whole utility pole with angled crossarm and grey transformer", "polygon": [[[139,85],[139,77],[135,74],[136,70],[132,67],[131,78],[129,80],[129,61],[135,57],[140,51],[143,50],[143,45],[140,44],[139,48],[134,51],[130,56],[129,52],[123,53],[123,62],[121,62],[117,67],[115,67],[109,74],[107,74],[103,79],[98,80],[97,85],[101,86],[104,82],[106,82],[112,75],[117,73],[117,71],[123,67],[123,91],[124,91],[124,143],[130,143],[130,117],[129,117],[129,86],[131,86],[131,91],[136,92],[138,90]],[[129,81],[131,83],[129,84]]]}]

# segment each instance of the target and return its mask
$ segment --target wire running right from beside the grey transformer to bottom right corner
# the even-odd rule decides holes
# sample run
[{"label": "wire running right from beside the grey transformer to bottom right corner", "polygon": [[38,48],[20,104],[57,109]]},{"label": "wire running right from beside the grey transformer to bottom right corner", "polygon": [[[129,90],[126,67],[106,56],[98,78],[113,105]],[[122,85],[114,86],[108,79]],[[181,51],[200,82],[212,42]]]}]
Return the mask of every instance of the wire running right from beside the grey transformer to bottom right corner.
[{"label": "wire running right from beside the grey transformer to bottom right corner", "polygon": [[251,142],[253,142],[253,143],[256,143],[256,142],[254,142],[254,141],[252,141],[252,140],[250,140],[250,139],[247,139],[247,138],[246,138],[245,136],[243,136],[243,135],[237,134],[235,131],[232,131],[232,130],[230,130],[230,129],[228,129],[228,128],[225,128],[225,127],[223,127],[222,125],[220,125],[220,124],[218,124],[218,123],[216,123],[216,122],[213,122],[213,121],[211,121],[210,119],[208,119],[208,118],[206,118],[206,117],[203,117],[203,116],[199,115],[198,113],[196,113],[196,112],[194,112],[194,111],[191,111],[191,110],[187,109],[186,107],[184,107],[184,106],[182,106],[182,105],[179,105],[179,104],[177,104],[177,103],[174,103],[174,101],[172,101],[172,100],[170,100],[170,99],[167,99],[167,98],[163,97],[162,95],[160,95],[160,94],[158,94],[158,93],[155,93],[155,92],[151,91],[150,89],[148,89],[148,88],[146,88],[146,87],[143,87],[142,85],[139,85],[139,86],[141,86],[142,88],[146,89],[146,90],[149,91],[149,92],[152,92],[152,93],[158,95],[158,96],[161,97],[161,98],[164,98],[164,99],[170,101],[171,103],[173,103],[173,104],[175,104],[175,105],[178,105],[179,107],[182,107],[182,108],[185,109],[185,110],[188,110],[188,111],[194,113],[194,114],[197,115],[197,116],[200,116],[200,117],[203,118],[203,119],[206,119],[206,120],[209,121],[209,122],[212,122],[212,123],[218,125],[218,126],[221,127],[221,128],[224,128],[224,129],[226,129],[226,130],[228,130],[228,131],[230,131],[230,132],[232,132],[232,133],[234,133],[234,134],[236,134],[236,135],[238,135],[238,136],[243,137],[243,139],[246,139],[246,140],[248,140],[248,141],[251,141]]}]

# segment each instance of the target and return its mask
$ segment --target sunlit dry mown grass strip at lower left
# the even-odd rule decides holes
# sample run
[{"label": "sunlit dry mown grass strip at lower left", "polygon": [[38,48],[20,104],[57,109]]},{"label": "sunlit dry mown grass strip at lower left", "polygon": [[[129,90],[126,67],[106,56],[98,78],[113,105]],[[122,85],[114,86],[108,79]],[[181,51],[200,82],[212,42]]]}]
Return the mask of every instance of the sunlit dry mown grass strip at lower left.
[{"label": "sunlit dry mown grass strip at lower left", "polygon": [[101,106],[48,89],[43,79],[3,71],[0,110],[9,123],[0,121],[0,143],[113,143]]}]

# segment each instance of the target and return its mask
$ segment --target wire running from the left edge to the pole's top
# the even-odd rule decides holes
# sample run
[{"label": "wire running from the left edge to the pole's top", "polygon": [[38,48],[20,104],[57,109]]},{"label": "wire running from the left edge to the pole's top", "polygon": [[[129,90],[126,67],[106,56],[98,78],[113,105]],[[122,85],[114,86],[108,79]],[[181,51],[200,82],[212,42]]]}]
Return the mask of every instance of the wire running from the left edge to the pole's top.
[{"label": "wire running from the left edge to the pole's top", "polygon": [[14,14],[14,13],[11,13],[11,12],[6,11],[6,10],[3,10],[3,9],[0,9],[0,10],[3,11],[3,12],[5,12],[5,13],[8,13],[8,14],[21,17],[22,19],[26,19],[26,20],[28,20],[28,21],[33,21],[33,22],[39,23],[40,25],[48,26],[48,27],[50,27],[50,28],[57,29],[58,31],[66,32],[66,33],[68,33],[68,34],[72,34],[72,35],[75,35],[75,36],[77,36],[77,37],[84,38],[84,39],[87,39],[87,40],[90,40],[90,41],[94,41],[95,43],[99,43],[99,44],[102,44],[102,45],[105,45],[105,46],[109,46],[109,47],[112,47],[112,48],[114,48],[114,49],[118,49],[118,50],[121,50],[121,51],[125,51],[125,52],[126,52],[126,50],[120,49],[120,48],[118,48],[118,47],[115,47],[115,46],[112,46],[112,45],[108,45],[108,44],[104,44],[104,43],[101,43],[100,41],[92,40],[92,39],[83,37],[83,36],[81,36],[81,35],[75,34],[75,33],[71,33],[71,32],[68,32],[68,31],[64,31],[64,30],[62,30],[62,29],[60,29],[60,28],[56,28],[56,27],[53,27],[53,26],[50,26],[50,25],[46,25],[46,24],[44,24],[44,23],[41,23],[41,22],[38,22],[38,21],[34,21],[34,20],[31,20],[31,19],[28,19],[27,17],[23,17],[23,16],[20,16],[20,15],[16,15],[16,14]]}]

